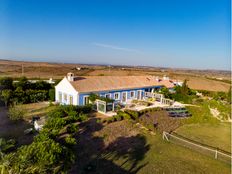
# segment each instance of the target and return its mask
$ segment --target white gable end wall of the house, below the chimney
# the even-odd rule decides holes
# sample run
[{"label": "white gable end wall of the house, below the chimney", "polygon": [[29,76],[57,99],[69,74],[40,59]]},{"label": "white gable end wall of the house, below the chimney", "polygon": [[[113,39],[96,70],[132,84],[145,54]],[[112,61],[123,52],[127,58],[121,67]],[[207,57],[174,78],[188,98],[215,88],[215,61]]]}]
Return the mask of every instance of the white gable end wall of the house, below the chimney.
[{"label": "white gable end wall of the house, below the chimney", "polygon": [[[69,96],[71,95],[73,97],[73,105],[79,105],[79,97],[78,92],[74,89],[74,87],[69,83],[68,79],[66,77],[63,78],[63,80],[60,81],[55,86],[55,101],[59,102],[59,92],[62,93],[62,102],[59,102],[61,104],[69,105]],[[64,94],[67,94],[67,101],[64,100]]]}]

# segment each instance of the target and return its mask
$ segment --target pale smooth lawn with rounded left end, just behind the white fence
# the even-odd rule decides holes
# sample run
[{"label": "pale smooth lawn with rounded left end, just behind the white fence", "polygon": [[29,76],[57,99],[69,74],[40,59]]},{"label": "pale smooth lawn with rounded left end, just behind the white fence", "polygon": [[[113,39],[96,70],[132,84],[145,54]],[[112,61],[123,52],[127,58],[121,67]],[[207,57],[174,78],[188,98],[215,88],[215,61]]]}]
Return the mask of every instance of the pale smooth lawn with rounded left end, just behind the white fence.
[{"label": "pale smooth lawn with rounded left end, just behind the white fence", "polygon": [[188,139],[231,152],[230,131],[230,123],[218,123],[213,125],[204,123],[186,124],[179,127],[175,132]]}]

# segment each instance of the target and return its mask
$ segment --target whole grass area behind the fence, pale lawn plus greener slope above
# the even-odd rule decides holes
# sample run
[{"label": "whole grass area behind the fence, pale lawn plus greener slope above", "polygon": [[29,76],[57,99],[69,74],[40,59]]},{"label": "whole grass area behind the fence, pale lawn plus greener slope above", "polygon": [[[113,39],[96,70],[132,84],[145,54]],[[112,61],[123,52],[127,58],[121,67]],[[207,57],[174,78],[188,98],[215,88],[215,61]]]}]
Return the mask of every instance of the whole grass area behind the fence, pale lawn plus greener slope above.
[{"label": "whole grass area behind the fence, pale lawn plus greener slope above", "polygon": [[217,108],[221,114],[230,113],[230,105],[215,100],[203,101],[198,106],[188,106],[192,117],[182,120],[182,126],[176,133],[200,143],[218,147],[231,152],[231,126],[230,123],[220,122],[210,113],[211,108]]}]

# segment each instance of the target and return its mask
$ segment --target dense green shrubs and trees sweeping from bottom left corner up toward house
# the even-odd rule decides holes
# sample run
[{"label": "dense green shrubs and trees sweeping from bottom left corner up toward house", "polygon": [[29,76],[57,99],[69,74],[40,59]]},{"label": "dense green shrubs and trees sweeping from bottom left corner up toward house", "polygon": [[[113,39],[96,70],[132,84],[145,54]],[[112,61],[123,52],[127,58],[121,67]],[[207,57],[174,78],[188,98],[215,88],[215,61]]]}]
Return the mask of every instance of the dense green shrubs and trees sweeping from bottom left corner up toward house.
[{"label": "dense green shrubs and trees sweeping from bottom left corner up toward house", "polygon": [[66,173],[75,159],[77,123],[90,111],[91,106],[57,106],[32,144],[0,158],[0,173]]}]

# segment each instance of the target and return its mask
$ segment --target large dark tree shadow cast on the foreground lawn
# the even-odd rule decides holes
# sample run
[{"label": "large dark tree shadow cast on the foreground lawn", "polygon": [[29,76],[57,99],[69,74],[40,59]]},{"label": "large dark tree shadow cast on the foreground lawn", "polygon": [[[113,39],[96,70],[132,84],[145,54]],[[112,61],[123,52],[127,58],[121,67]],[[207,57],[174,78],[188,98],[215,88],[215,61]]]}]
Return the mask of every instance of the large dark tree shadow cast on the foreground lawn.
[{"label": "large dark tree shadow cast on the foreground lawn", "polygon": [[[142,135],[118,137],[108,146],[104,137],[93,136],[103,129],[96,118],[80,124],[77,135],[76,163],[69,173],[134,174],[147,165],[139,164],[150,149]],[[120,161],[115,164],[113,161]]]}]

